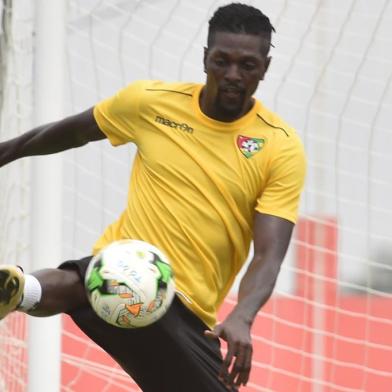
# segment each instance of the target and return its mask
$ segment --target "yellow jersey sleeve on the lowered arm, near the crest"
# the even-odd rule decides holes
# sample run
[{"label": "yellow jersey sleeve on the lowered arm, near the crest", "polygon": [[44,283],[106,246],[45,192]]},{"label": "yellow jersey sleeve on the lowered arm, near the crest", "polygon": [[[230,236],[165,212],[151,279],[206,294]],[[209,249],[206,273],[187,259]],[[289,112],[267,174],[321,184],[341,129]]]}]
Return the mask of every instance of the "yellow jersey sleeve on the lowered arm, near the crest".
[{"label": "yellow jersey sleeve on the lowered arm, near the crest", "polygon": [[296,223],[305,181],[306,159],[300,139],[291,134],[272,158],[267,184],[256,211]]}]

